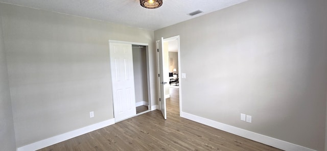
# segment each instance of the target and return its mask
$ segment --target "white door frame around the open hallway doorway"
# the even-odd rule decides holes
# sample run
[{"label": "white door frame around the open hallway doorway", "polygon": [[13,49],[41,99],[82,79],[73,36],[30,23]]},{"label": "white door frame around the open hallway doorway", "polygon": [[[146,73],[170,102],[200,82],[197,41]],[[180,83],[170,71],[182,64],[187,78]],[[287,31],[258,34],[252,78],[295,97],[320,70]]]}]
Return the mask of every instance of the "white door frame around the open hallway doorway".
[{"label": "white door frame around the open hallway doorway", "polygon": [[[164,40],[162,42],[169,42],[169,41],[174,41],[174,40],[177,40],[177,43],[178,43],[178,46],[177,46],[177,52],[178,52],[178,77],[179,77],[179,116],[182,115],[182,95],[181,95],[181,90],[182,90],[182,80],[181,80],[181,66],[180,66],[180,62],[181,62],[181,59],[180,59],[180,36],[177,35],[177,36],[173,36],[173,37],[168,37],[168,38],[164,38]],[[159,62],[159,61],[157,61]],[[158,93],[159,92],[159,89],[158,89]],[[159,94],[158,94],[159,96]],[[159,100],[159,98],[158,98]]]}]

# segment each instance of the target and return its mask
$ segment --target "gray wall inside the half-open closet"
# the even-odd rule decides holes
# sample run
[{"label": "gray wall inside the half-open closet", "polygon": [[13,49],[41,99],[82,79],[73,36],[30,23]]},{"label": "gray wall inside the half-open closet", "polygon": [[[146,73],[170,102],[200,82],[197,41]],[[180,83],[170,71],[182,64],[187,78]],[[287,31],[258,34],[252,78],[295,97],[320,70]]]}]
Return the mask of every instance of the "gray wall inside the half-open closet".
[{"label": "gray wall inside the half-open closet", "polygon": [[133,47],[133,69],[135,102],[149,102],[146,48]]}]

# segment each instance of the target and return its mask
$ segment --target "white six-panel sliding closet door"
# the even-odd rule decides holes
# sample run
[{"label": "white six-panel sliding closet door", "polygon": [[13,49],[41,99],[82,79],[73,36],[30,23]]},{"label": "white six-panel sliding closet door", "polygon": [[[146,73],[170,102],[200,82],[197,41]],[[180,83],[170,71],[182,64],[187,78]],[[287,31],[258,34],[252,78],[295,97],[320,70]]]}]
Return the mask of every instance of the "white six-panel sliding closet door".
[{"label": "white six-panel sliding closet door", "polygon": [[115,121],[136,115],[132,45],[110,42]]}]

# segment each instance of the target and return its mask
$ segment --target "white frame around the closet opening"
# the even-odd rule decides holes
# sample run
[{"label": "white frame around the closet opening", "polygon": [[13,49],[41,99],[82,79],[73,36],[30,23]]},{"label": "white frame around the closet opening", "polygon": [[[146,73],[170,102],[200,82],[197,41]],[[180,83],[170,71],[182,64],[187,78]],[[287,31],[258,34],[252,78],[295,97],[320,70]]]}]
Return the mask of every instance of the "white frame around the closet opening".
[{"label": "white frame around the closet opening", "polygon": [[[152,100],[151,100],[151,89],[150,89],[150,71],[149,71],[149,69],[150,69],[150,67],[149,67],[149,65],[150,65],[150,62],[149,62],[149,44],[148,43],[139,43],[139,42],[131,42],[131,41],[119,41],[119,40],[108,40],[108,48],[110,49],[110,42],[112,42],[112,43],[124,43],[124,44],[131,44],[131,45],[142,45],[142,46],[145,46],[146,47],[146,60],[147,60],[147,75],[148,75],[148,77],[147,77],[147,81],[148,81],[148,102],[149,102],[149,106],[148,106],[148,111],[145,111],[145,112],[143,112],[143,113],[146,113],[146,112],[149,112],[149,111],[151,111],[151,107],[152,107]],[[108,51],[109,51],[109,49],[108,49]],[[109,59],[110,59],[110,56],[109,56]],[[111,64],[110,64],[110,62],[109,62],[109,66],[110,66],[110,76],[111,76]],[[133,75],[134,76],[134,75]],[[111,88],[112,88],[112,79],[110,78],[110,82],[111,82]],[[114,104],[114,101],[113,101],[113,96],[112,96],[112,104]],[[112,105],[112,107],[113,107],[113,105]],[[142,114],[143,114],[142,113]],[[137,115],[140,115],[140,114],[136,114],[136,115],[134,115],[134,116],[137,116]],[[114,116],[114,109],[113,109],[113,116]],[[134,116],[131,116],[131,117],[134,117]],[[129,117],[129,118],[131,118],[131,117]],[[123,119],[124,120],[124,119]]]}]

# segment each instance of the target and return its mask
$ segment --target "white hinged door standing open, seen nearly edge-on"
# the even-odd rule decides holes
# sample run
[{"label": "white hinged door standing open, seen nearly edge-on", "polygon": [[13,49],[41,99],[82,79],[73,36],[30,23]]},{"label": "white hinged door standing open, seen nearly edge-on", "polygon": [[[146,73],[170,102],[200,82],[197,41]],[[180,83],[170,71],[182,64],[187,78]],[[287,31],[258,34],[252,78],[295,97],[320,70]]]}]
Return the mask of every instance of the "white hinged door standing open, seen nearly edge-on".
[{"label": "white hinged door standing open, seen nearly edge-on", "polygon": [[159,73],[159,106],[160,110],[162,112],[162,115],[164,115],[164,118],[167,119],[167,111],[166,111],[166,98],[165,98],[165,84],[167,82],[164,81],[164,51],[162,48],[162,43],[164,41],[164,38],[161,37],[160,40],[156,41],[157,46],[157,61],[158,61],[158,73]]}]

